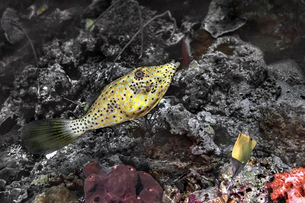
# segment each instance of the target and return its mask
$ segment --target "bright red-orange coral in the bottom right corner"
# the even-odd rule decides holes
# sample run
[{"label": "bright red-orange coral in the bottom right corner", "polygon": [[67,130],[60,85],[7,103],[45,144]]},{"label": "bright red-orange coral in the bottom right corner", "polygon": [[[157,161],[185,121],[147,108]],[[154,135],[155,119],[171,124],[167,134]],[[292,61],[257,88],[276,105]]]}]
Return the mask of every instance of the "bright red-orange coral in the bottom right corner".
[{"label": "bright red-orange coral in the bottom right corner", "polygon": [[272,189],[271,199],[278,202],[285,198],[286,202],[305,202],[305,168],[293,168],[289,172],[276,173],[275,180],[266,184]]}]

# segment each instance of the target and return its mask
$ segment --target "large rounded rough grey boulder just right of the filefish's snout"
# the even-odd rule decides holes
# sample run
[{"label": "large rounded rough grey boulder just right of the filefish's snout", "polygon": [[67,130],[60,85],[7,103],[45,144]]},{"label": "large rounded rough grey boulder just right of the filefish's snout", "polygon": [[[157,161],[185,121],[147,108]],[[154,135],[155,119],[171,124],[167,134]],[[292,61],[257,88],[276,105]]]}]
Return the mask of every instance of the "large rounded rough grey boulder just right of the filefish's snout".
[{"label": "large rounded rough grey boulder just right of the filefish's snout", "polygon": [[[221,44],[231,47],[232,54],[218,51]],[[238,38],[217,39],[197,64],[192,63],[187,72],[177,72],[172,83],[180,88],[177,97],[182,97],[191,112],[212,105],[208,110],[212,114],[229,116],[242,110],[250,117],[257,104],[275,101],[280,95],[276,81],[267,75],[262,51]]]}]

